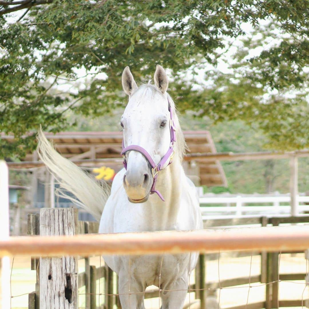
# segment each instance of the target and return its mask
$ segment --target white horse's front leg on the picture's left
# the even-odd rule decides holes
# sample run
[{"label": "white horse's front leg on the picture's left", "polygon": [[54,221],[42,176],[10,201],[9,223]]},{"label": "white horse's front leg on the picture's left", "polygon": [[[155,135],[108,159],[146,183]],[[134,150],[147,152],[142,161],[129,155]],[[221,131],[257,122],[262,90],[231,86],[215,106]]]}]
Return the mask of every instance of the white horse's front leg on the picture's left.
[{"label": "white horse's front leg on the picture's left", "polygon": [[121,276],[119,274],[118,291],[121,307],[125,309],[145,309],[144,294],[146,286],[136,281],[132,276]]}]

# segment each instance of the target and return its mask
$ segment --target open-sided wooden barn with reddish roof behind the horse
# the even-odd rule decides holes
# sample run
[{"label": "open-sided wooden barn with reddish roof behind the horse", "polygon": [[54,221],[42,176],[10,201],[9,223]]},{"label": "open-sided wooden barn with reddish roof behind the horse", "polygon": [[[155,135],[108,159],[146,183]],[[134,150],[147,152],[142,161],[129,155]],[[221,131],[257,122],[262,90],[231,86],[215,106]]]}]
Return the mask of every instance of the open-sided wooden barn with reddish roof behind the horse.
[{"label": "open-sided wooden barn with reddish roof behind the horse", "polygon": [[[117,173],[122,166],[122,132],[60,132],[46,133],[57,151],[75,164],[89,170],[97,178],[112,180],[110,172]],[[188,153],[215,154],[216,148],[209,131],[184,131]],[[11,136],[2,136],[12,140]],[[185,158],[184,169],[197,186],[226,186],[226,177],[219,161]],[[32,170],[32,205],[34,207],[65,206],[66,201],[54,197],[53,177],[38,161],[36,152],[28,153],[22,162],[9,164],[11,168]],[[105,171],[105,174],[104,174]],[[102,176],[103,175],[103,176]],[[98,177],[101,176],[101,177]],[[57,186],[57,184],[56,184]]]}]

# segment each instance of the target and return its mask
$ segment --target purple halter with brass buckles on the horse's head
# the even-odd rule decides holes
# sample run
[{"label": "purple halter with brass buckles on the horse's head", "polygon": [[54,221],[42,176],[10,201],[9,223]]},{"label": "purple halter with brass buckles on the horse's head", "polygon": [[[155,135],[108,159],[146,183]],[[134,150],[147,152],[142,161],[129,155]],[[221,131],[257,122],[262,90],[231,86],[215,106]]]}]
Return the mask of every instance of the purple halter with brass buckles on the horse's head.
[{"label": "purple halter with brass buckles on the horse's head", "polygon": [[170,143],[170,147],[168,148],[166,154],[160,160],[158,165],[155,164],[155,161],[151,158],[149,153],[143,147],[138,146],[138,145],[130,145],[130,146],[125,147],[125,143],[123,139],[122,139],[122,152],[121,152],[121,155],[123,156],[123,166],[125,167],[125,169],[127,169],[127,160],[125,158],[125,154],[127,151],[130,151],[130,150],[138,151],[146,158],[146,160],[149,162],[150,166],[152,167],[151,173],[153,177],[153,182],[152,182],[152,186],[150,189],[150,194],[157,193],[162,201],[165,201],[162,194],[158,190],[155,189],[155,185],[158,180],[158,172],[163,169],[163,166],[167,162],[168,159],[170,162],[167,164],[167,166],[172,163],[172,160],[174,157],[174,142],[176,141],[176,134],[175,134],[176,129],[175,129],[175,124],[173,120],[171,104],[168,98],[167,98],[167,102],[168,102],[168,111],[170,112],[170,117],[171,117],[170,118],[171,143]]}]

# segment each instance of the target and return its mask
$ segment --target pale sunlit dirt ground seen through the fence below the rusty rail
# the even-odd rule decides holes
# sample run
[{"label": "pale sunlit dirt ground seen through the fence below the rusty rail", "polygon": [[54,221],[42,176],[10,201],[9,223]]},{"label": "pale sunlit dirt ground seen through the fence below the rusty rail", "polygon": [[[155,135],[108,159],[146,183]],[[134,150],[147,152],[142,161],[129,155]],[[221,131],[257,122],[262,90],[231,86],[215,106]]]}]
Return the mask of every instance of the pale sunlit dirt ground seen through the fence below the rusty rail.
[{"label": "pale sunlit dirt ground seen through the fence below the rusty rail", "polygon": [[[236,277],[247,277],[250,274],[255,276],[260,274],[260,256],[252,256],[252,263],[250,263],[251,257],[237,257],[231,258],[225,256],[224,253],[220,255],[219,260],[207,261],[206,263],[206,281],[214,282],[231,279]],[[12,260],[11,260],[12,263]],[[99,257],[93,257],[90,260],[91,265],[100,265]],[[104,264],[101,259],[101,264]],[[251,264],[251,270],[250,270]],[[79,261],[79,272],[84,271],[83,260]],[[282,254],[280,258],[279,272],[283,273],[306,273],[306,260],[304,254]],[[309,272],[309,268],[308,268]],[[11,308],[28,308],[28,293],[35,290],[35,271],[30,270],[29,258],[15,258],[11,275]],[[194,273],[190,277],[190,283],[194,283]],[[102,292],[104,289],[104,279],[100,282],[97,281],[97,293]],[[85,306],[85,290],[79,289],[79,308]],[[23,295],[24,294],[24,295]],[[220,307],[222,309],[241,304],[255,303],[265,300],[265,284],[253,283],[251,288],[248,285],[235,286],[231,288],[223,288],[221,290],[214,291],[217,299],[220,297]],[[19,296],[20,295],[20,296]],[[189,299],[190,298],[190,299]],[[306,287],[305,280],[294,282],[280,282],[279,283],[279,299],[307,299],[309,298],[309,287]],[[187,295],[186,303],[192,303],[190,306],[192,309],[197,308],[195,301],[195,294],[190,293]],[[97,303],[102,304],[104,302],[104,296],[97,296]],[[146,308],[157,309],[159,308],[159,299],[146,299]],[[189,307],[188,307],[189,308]]]}]

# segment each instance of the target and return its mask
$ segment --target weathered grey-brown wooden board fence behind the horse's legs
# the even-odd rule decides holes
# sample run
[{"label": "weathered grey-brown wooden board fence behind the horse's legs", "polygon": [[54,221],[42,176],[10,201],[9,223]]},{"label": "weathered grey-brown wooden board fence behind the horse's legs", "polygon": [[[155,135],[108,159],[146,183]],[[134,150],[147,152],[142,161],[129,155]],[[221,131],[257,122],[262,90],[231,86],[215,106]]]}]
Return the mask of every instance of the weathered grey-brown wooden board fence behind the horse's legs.
[{"label": "weathered grey-brown wooden board fence behind the horse's legs", "polygon": [[[76,234],[91,234],[97,233],[99,224],[97,222],[77,222],[77,210],[74,209],[42,209],[40,214],[29,214],[28,215],[28,234],[29,235],[39,235],[40,226],[44,226],[44,222],[40,222],[40,216],[42,220],[47,217],[47,212],[72,212],[73,218],[76,220]],[[42,213],[43,212],[43,213]],[[57,215],[61,217],[61,215]],[[57,218],[58,218],[57,217]],[[309,222],[309,216],[299,216],[299,217],[252,217],[252,218],[233,218],[233,219],[214,219],[205,220],[204,228],[215,228],[215,227],[233,227],[233,226],[279,226],[279,224],[296,224]],[[74,225],[72,221],[70,224]],[[66,235],[66,234],[64,234]],[[301,252],[301,251],[300,251]],[[278,299],[278,278],[280,280],[304,280],[306,277],[305,273],[294,273],[294,274],[279,274],[278,273],[278,260],[280,252],[233,252],[233,256],[251,256],[260,255],[261,256],[261,273],[257,276],[251,277],[238,277],[228,280],[221,280],[220,282],[205,282],[205,269],[208,260],[217,259],[218,255],[214,254],[201,254],[198,260],[197,268],[195,270],[195,282],[190,285],[189,290],[195,292],[196,299],[201,300],[201,308],[205,308],[207,294],[210,290],[232,287],[244,284],[252,284],[255,282],[265,283],[266,298],[265,301],[259,303],[251,303],[249,305],[243,305],[238,307],[233,307],[233,309],[258,309],[258,308],[278,308],[279,307],[297,307],[302,306],[302,300],[279,300]],[[281,252],[281,254],[290,253],[288,251]],[[104,308],[111,309],[114,305],[117,308],[121,308],[117,288],[117,277],[113,274],[112,270],[108,268],[107,265],[103,265],[96,268],[94,265],[90,265],[89,257],[82,257],[85,259],[85,271],[78,274],[78,285],[77,289],[85,286],[85,303],[86,308],[97,308],[99,304],[96,303],[96,295],[99,292],[96,290],[96,281],[100,278],[104,278],[104,291],[101,294],[105,294],[104,297]],[[42,275],[42,266],[40,264],[44,263],[44,259],[49,259],[47,264],[50,264],[50,260],[53,258],[40,258],[32,259],[31,269],[37,272],[37,282],[35,292],[29,294],[29,308],[38,309],[43,308],[39,305],[40,303],[40,277]],[[39,261],[40,260],[40,261]],[[66,273],[67,274],[67,273]],[[58,275],[57,275],[58,276]],[[115,282],[116,281],[116,282]],[[72,286],[71,286],[72,287]],[[74,293],[73,293],[74,294]],[[154,298],[159,296],[159,290],[150,291],[145,294],[145,298]],[[307,300],[304,304],[307,304]],[[75,305],[76,306],[76,305]],[[71,308],[71,307],[68,307]],[[72,307],[77,308],[77,307]]]}]

